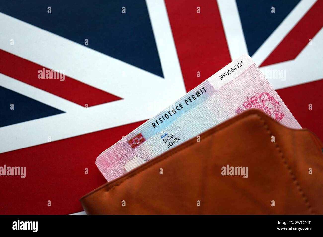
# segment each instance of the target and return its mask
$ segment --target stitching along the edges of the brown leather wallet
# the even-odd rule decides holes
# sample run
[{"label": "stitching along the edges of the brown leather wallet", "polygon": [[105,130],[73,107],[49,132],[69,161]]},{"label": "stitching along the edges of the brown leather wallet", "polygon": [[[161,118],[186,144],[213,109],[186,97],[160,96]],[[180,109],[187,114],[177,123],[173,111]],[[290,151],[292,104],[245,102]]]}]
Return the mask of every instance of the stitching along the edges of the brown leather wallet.
[{"label": "stitching along the edges of the brown leather wallet", "polygon": [[[269,135],[270,135],[270,136],[272,136],[272,133],[271,133],[271,131],[269,130],[269,127],[268,127],[268,125],[266,124],[266,121],[265,121],[264,119],[262,119],[262,118],[261,118],[261,116],[260,116],[259,114],[256,114],[256,113],[255,113],[255,114],[246,114],[245,116],[243,116],[242,118],[240,118],[240,120],[241,120],[241,119],[244,119],[244,118],[246,118],[246,117],[252,116],[252,115],[256,115],[256,116],[259,118],[259,120],[264,124],[264,127],[265,127],[265,129],[268,131]],[[234,121],[233,123],[230,123],[230,124],[228,124],[227,126],[224,126],[223,128],[221,128],[221,129],[219,129],[219,130],[216,130],[216,131],[214,131],[214,132],[212,132],[212,133],[208,134],[207,136],[205,136],[205,138],[207,138],[207,137],[209,137],[209,136],[213,135],[214,133],[217,133],[217,132],[220,132],[220,131],[224,130],[225,128],[227,128],[227,127],[231,126],[231,125],[232,125],[232,124],[234,124],[235,122],[237,122],[237,121]],[[205,140],[205,139],[203,139],[203,141],[204,141],[204,140]],[[121,183],[123,183],[123,182],[125,182],[126,180],[128,180],[128,179],[132,178],[133,176],[135,176],[135,175],[137,175],[137,174],[139,174],[139,173],[141,173],[141,172],[143,172],[143,171],[147,170],[148,168],[151,168],[151,166],[153,166],[153,165],[155,165],[155,164],[158,164],[158,163],[160,163],[160,162],[162,162],[162,161],[166,160],[167,158],[169,158],[169,157],[173,156],[173,155],[174,155],[174,154],[176,154],[176,153],[181,152],[182,150],[185,150],[186,148],[188,148],[188,147],[190,147],[190,146],[192,146],[192,145],[194,145],[194,144],[196,144],[196,143],[189,143],[189,144],[187,144],[186,146],[183,146],[181,149],[178,149],[176,152],[174,152],[174,153],[172,153],[172,154],[169,154],[168,156],[165,156],[165,157],[163,157],[162,159],[160,159],[160,160],[158,160],[158,161],[156,161],[156,162],[154,162],[154,163],[151,163],[149,166],[145,167],[144,169],[140,170],[139,172],[131,174],[129,177],[127,177],[126,179],[122,180],[120,183],[116,183],[116,184],[114,184],[113,186],[109,187],[109,188],[106,190],[106,192],[109,192],[111,189],[113,189],[113,188],[115,188],[115,187],[119,186]],[[281,151],[280,147],[278,146],[278,144],[277,144],[276,142],[275,142],[275,146],[276,146],[276,148],[277,148],[277,150],[278,150],[278,153],[280,154],[280,156],[281,156],[281,158],[282,158],[282,160],[283,160],[283,163],[286,165],[286,167],[287,167],[287,169],[288,169],[288,171],[289,171],[290,175],[292,176],[292,179],[293,179],[294,183],[295,183],[295,184],[296,184],[296,186],[297,186],[297,190],[299,191],[299,193],[300,193],[300,194],[301,194],[301,196],[303,197],[303,199],[304,199],[304,201],[305,201],[305,204],[306,204],[306,206],[307,206],[307,208],[308,208],[309,212],[310,212],[311,214],[314,214],[313,209],[312,209],[311,205],[309,204],[308,199],[307,199],[307,197],[306,197],[305,193],[303,192],[303,190],[302,190],[301,186],[299,185],[299,183],[298,183],[298,181],[297,181],[297,179],[296,179],[296,177],[295,177],[295,175],[294,175],[294,173],[293,173],[292,169],[291,169],[291,168],[290,168],[290,166],[287,164],[287,161],[286,161],[286,159],[285,159],[285,157],[284,157],[284,154],[282,153],[282,151]]]}]

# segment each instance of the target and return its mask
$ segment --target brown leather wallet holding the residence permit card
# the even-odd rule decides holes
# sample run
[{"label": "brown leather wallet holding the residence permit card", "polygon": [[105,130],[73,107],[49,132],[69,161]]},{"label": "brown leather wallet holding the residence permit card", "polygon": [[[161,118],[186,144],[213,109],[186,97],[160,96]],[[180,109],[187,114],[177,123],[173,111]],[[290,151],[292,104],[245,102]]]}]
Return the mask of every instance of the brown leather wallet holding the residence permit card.
[{"label": "brown leather wallet holding the residence permit card", "polygon": [[249,110],[80,202],[88,214],[323,214],[322,147]]}]

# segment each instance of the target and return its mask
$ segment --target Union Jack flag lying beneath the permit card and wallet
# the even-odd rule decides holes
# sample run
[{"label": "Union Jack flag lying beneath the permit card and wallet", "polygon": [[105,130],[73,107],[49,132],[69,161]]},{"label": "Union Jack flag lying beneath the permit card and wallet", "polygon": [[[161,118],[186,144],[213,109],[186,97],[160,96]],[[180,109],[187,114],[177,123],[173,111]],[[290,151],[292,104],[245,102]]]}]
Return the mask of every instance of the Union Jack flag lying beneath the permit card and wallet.
[{"label": "Union Jack flag lying beneath the permit card and wallet", "polygon": [[0,165],[26,166],[26,178],[1,180],[0,214],[81,212],[78,199],[106,182],[102,151],[242,54],[322,139],[322,10],[322,0],[0,1]]}]

